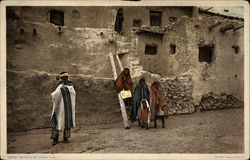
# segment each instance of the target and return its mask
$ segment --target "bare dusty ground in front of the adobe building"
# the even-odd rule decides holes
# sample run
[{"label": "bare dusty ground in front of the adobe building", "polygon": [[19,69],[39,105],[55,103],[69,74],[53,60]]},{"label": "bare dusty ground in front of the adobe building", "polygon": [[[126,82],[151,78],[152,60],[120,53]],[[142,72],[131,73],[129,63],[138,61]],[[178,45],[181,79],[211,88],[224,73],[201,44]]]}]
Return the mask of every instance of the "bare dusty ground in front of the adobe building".
[{"label": "bare dusty ground in front of the adobe building", "polygon": [[240,108],[171,116],[165,129],[78,126],[69,144],[56,146],[50,129],[9,133],[8,153],[242,153],[243,113]]}]

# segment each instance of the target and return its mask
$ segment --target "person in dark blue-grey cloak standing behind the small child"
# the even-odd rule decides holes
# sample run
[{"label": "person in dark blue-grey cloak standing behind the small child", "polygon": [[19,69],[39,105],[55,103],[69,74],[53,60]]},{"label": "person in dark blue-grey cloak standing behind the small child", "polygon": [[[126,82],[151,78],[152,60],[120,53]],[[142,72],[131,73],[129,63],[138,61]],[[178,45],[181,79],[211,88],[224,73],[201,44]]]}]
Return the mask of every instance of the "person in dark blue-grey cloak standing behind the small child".
[{"label": "person in dark blue-grey cloak standing behind the small child", "polygon": [[149,89],[144,78],[139,80],[139,83],[133,92],[133,107],[130,114],[131,122],[138,120],[140,125],[140,106],[142,99],[149,101]]}]

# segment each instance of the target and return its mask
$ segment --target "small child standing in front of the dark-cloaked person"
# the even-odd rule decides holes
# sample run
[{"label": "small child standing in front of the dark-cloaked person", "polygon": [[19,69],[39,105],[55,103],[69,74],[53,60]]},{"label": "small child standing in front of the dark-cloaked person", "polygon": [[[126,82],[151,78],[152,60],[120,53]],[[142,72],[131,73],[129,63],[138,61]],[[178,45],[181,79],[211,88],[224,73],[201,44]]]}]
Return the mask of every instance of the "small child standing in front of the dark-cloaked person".
[{"label": "small child standing in front of the dark-cloaked person", "polygon": [[149,128],[150,122],[150,107],[148,101],[146,99],[142,99],[141,101],[141,115],[140,115],[140,122],[142,128]]}]

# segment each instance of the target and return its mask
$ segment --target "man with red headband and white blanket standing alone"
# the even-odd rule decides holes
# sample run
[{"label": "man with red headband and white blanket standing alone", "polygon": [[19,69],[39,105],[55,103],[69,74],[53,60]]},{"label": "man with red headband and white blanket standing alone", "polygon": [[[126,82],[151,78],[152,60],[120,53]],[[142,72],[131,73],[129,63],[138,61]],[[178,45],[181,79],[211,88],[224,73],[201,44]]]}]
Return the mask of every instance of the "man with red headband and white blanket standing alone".
[{"label": "man with red headband and white blanket standing alone", "polygon": [[63,142],[68,143],[70,128],[75,127],[75,98],[73,83],[68,80],[69,74],[62,72],[56,90],[51,93],[53,109],[51,115],[52,145],[58,143],[59,131],[64,130]]}]

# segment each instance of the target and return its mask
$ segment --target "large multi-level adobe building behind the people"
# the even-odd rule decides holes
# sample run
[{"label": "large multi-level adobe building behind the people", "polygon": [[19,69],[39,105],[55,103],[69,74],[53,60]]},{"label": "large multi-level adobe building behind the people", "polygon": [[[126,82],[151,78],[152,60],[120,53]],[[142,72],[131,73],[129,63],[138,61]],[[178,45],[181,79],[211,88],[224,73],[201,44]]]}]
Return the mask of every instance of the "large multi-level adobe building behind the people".
[{"label": "large multi-level adobe building behind the people", "polygon": [[7,7],[7,127],[49,126],[62,71],[76,86],[78,125],[122,121],[110,53],[135,84],[161,82],[170,114],[243,107],[243,24],[198,7]]}]

